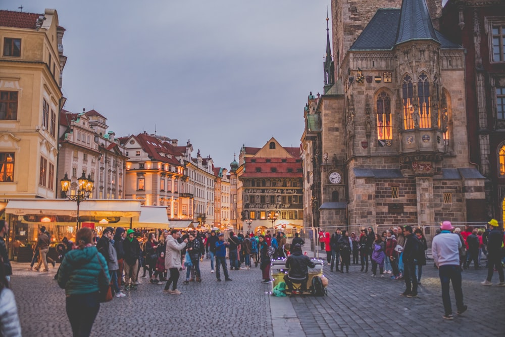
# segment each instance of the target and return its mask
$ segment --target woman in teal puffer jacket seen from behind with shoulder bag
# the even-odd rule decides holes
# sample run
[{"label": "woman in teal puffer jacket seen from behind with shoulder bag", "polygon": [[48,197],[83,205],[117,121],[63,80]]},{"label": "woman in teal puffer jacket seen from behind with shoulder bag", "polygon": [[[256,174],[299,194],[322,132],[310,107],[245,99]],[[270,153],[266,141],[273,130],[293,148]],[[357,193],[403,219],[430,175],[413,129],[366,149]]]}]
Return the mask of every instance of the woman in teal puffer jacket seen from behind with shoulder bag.
[{"label": "woman in teal puffer jacket seen from behind with shoulder bag", "polygon": [[[65,254],[58,274],[58,284],[67,295],[67,316],[75,336],[89,336],[94,319],[100,309],[99,282],[110,282],[107,262],[92,244],[93,232],[89,228],[77,231],[77,247]],[[102,269],[107,279],[99,277]]]}]

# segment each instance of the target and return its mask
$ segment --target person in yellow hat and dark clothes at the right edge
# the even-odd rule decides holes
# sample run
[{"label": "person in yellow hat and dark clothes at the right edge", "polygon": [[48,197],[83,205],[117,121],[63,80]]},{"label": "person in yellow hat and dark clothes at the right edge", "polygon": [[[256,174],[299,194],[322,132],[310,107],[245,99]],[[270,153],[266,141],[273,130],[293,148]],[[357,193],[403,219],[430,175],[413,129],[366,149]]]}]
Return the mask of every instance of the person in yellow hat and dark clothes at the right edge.
[{"label": "person in yellow hat and dark clothes at the right edge", "polygon": [[487,223],[491,227],[487,238],[487,278],[481,282],[482,285],[491,285],[491,278],[493,277],[494,268],[498,271],[500,282],[498,286],[505,286],[505,279],[503,278],[503,266],[501,265],[501,254],[503,246],[503,233],[498,229],[498,221],[491,219]]}]

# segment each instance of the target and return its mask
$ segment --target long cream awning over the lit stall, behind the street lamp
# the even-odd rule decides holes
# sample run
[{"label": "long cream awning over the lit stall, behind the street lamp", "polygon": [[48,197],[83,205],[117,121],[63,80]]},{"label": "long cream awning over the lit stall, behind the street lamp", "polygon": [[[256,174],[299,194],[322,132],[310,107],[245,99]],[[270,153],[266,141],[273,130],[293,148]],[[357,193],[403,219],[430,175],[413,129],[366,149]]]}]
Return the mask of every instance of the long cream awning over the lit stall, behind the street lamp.
[{"label": "long cream awning over the lit stall, behind the street lamp", "polygon": [[[86,200],[79,205],[82,217],[124,217],[138,221],[140,201],[136,200]],[[10,200],[6,213],[14,215],[44,214],[77,216],[77,204],[63,199],[20,199]]]}]

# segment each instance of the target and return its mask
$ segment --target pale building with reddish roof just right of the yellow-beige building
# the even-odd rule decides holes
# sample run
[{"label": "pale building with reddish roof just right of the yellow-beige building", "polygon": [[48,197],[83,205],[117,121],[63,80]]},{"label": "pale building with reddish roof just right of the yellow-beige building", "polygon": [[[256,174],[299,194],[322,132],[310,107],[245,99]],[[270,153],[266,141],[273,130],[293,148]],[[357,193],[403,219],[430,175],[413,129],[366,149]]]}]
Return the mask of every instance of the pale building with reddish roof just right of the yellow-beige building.
[{"label": "pale building with reddish roof just right of the yellow-beige building", "polygon": [[107,118],[95,110],[83,109],[81,114],[62,110],[57,181],[67,174],[72,181],[68,194],[76,194],[77,179],[84,173],[94,181],[89,199],[124,199],[127,157],[106,123]]}]

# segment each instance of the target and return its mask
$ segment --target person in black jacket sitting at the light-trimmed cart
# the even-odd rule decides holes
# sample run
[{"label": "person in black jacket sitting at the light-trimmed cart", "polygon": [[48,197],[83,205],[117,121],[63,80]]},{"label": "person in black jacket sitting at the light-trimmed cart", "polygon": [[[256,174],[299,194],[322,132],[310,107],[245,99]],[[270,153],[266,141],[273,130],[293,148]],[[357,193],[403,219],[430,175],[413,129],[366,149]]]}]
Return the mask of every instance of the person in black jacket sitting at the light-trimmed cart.
[{"label": "person in black jacket sitting at the light-trimmed cart", "polygon": [[291,255],[286,260],[286,268],[288,273],[284,276],[288,292],[293,291],[293,283],[301,283],[300,291],[307,291],[307,281],[309,280],[309,267],[314,268],[316,265],[311,259],[301,253],[299,244],[291,247]]}]

